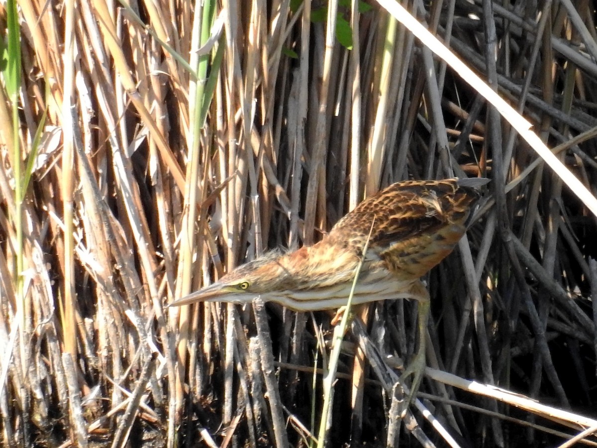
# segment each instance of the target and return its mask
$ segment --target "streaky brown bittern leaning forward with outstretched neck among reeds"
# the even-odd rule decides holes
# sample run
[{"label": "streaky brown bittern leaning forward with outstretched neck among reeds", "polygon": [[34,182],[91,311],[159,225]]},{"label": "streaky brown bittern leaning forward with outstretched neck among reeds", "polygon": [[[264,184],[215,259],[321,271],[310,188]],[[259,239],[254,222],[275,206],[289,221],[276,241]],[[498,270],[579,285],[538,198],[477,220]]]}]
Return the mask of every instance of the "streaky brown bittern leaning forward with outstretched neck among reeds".
[{"label": "streaky brown bittern leaning forward with outstretched neck among reeds", "polygon": [[170,306],[251,303],[260,296],[294,311],[341,310],[362,262],[352,305],[398,298],[418,301],[417,352],[400,378],[404,383],[413,375],[410,401],[426,366],[430,298],[421,277],[464,235],[487,182],[454,178],[393,183],[362,201],[313,246],[267,253]]}]

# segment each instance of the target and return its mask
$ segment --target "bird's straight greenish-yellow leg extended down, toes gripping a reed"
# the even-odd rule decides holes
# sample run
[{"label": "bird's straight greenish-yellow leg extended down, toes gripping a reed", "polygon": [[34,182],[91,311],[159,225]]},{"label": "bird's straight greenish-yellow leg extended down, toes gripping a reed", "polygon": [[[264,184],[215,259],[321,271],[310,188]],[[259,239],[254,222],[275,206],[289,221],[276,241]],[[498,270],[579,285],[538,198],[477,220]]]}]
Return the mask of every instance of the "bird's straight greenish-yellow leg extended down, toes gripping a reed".
[{"label": "bird's straight greenish-yellow leg extended down, toes gripping a reed", "polygon": [[408,376],[413,375],[413,381],[411,382],[410,386],[410,394],[408,394],[408,400],[405,402],[404,409],[402,409],[402,415],[404,415],[408,409],[408,406],[411,404],[414,398],[416,398],[418,386],[421,384],[421,379],[423,379],[423,373],[426,367],[425,344],[427,338],[427,321],[429,320],[430,309],[429,293],[427,292],[427,289],[423,283],[418,281],[417,283],[413,284],[410,293],[410,297],[416,299],[418,305],[418,348],[413,360],[408,363],[408,367],[404,369],[404,372],[402,372],[402,375],[400,376],[400,382],[404,384],[405,379]]}]

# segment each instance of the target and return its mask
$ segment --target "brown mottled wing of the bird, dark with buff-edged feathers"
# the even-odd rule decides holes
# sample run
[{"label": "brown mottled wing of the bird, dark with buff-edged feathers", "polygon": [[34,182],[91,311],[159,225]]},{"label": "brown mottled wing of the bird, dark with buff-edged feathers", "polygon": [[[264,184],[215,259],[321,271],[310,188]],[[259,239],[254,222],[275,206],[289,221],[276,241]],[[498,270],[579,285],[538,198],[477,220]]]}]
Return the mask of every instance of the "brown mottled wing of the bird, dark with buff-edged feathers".
[{"label": "brown mottled wing of the bird, dark with buff-edged feathers", "polygon": [[343,217],[329,237],[361,251],[373,222],[368,251],[401,278],[418,278],[437,265],[466,231],[476,187],[487,180],[397,182]]}]

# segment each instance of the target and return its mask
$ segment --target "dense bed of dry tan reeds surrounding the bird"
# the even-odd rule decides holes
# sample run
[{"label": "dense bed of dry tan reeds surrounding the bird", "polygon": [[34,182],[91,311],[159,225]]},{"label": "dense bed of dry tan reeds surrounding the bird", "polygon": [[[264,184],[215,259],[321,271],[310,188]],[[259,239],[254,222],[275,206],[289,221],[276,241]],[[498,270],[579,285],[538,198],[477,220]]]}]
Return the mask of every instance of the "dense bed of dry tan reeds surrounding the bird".
[{"label": "dense bed of dry tan reeds surrounding the bird", "polygon": [[[381,4],[0,5],[3,446],[597,444],[595,2],[402,3],[521,116]],[[404,419],[408,301],[352,322],[324,432],[327,314],[166,308],[454,176],[492,182]]]}]

